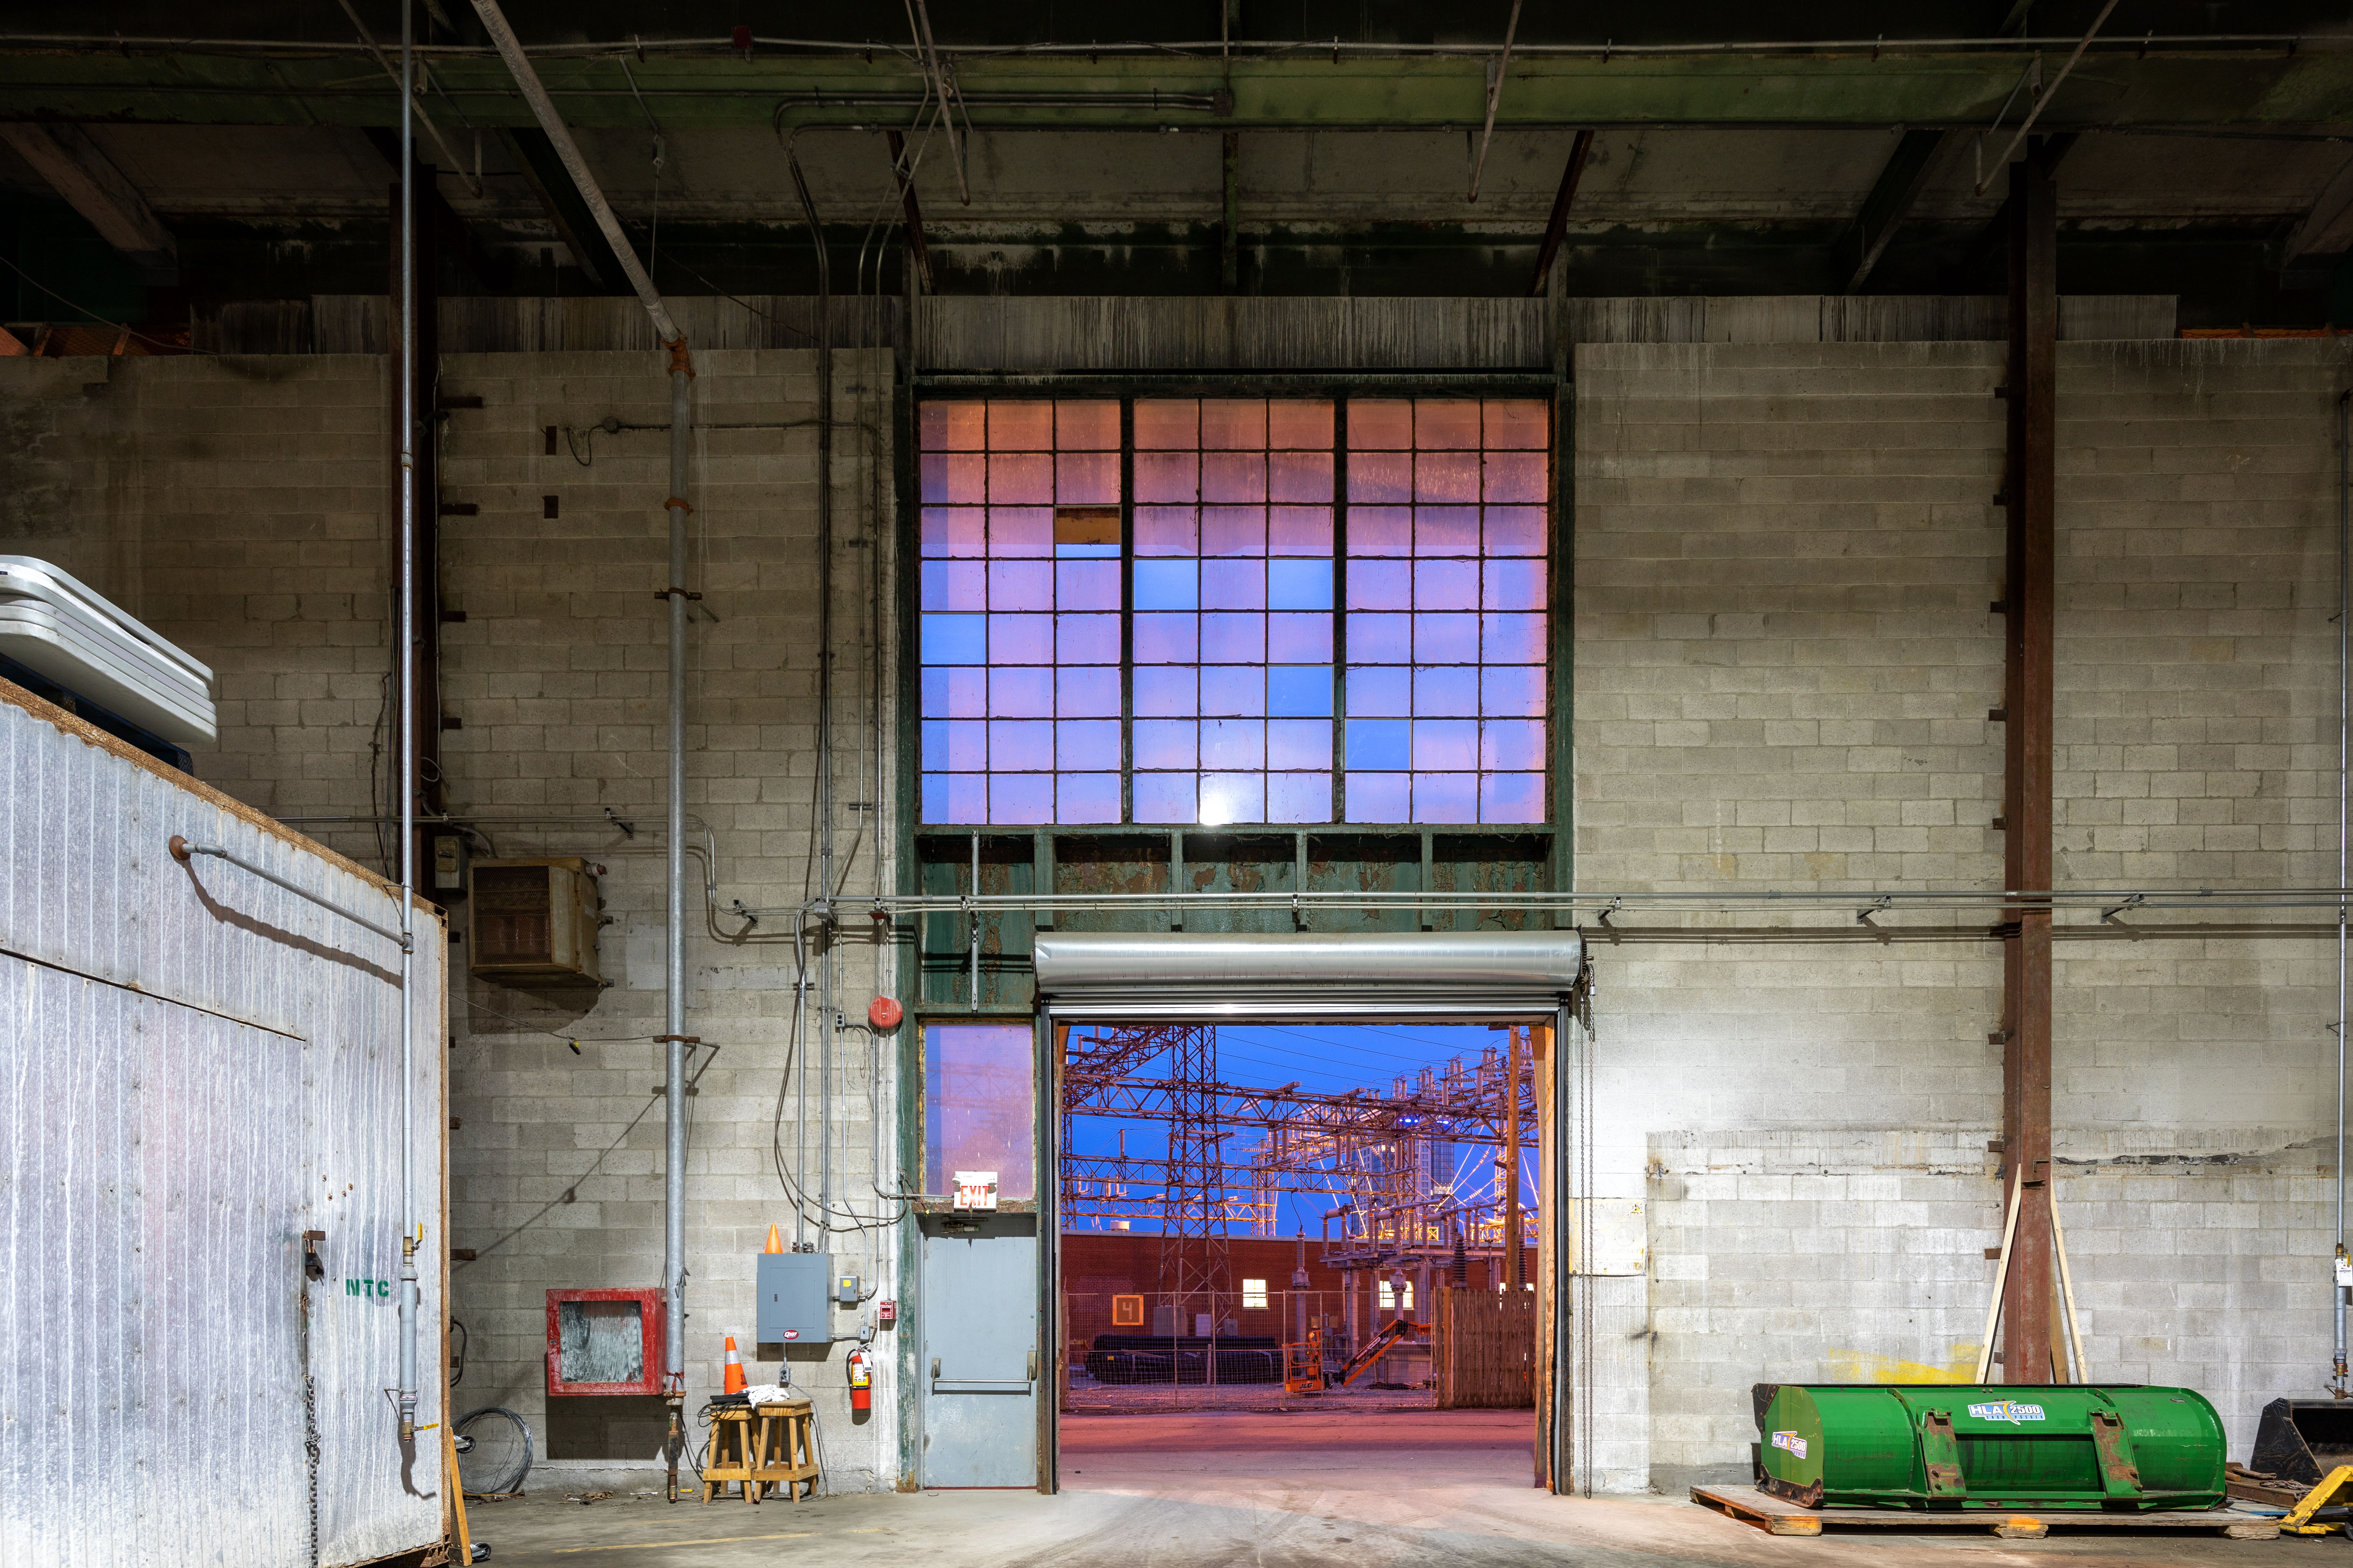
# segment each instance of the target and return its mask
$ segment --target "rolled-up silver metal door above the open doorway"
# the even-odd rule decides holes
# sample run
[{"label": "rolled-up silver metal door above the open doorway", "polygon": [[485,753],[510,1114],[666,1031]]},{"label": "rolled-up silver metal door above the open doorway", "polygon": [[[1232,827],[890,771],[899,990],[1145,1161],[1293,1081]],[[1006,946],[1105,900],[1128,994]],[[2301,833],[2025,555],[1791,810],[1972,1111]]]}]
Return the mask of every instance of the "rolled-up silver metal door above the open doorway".
[{"label": "rolled-up silver metal door above the open doorway", "polygon": [[1040,931],[1038,1001],[1085,1018],[1551,1016],[1584,973],[1574,931]]}]

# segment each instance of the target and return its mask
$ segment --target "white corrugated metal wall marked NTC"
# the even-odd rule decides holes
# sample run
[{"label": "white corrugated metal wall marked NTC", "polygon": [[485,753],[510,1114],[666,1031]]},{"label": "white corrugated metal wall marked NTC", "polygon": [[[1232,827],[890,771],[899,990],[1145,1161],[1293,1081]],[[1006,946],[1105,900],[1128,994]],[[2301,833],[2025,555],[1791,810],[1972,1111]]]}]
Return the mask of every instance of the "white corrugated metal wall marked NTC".
[{"label": "white corrugated metal wall marked NTC", "polygon": [[[362,1563],[440,1540],[402,1469],[398,947],[369,879],[0,684],[0,1563]],[[424,1403],[442,1321],[445,940],[419,924]],[[327,1279],[301,1312],[301,1232]],[[381,1288],[379,1288],[381,1284]],[[304,1368],[318,1382],[318,1556]]]}]

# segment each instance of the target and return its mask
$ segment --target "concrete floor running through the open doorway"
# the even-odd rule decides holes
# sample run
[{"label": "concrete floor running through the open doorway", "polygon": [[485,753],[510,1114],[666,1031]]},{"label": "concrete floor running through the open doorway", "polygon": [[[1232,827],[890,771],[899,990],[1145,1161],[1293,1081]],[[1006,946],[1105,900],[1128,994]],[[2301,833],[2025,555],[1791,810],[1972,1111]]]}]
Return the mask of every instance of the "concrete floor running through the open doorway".
[{"label": "concrete floor running through the open doorway", "polygon": [[2115,1568],[2249,1561],[2344,1542],[2184,1535],[1922,1530],[1772,1537],[1687,1500],[1548,1497],[1527,1483],[1525,1413],[1075,1415],[1064,1420],[1064,1493],[927,1493],[788,1505],[562,1502],[534,1493],[480,1505],[492,1563],[555,1568],[732,1568],[779,1556],[976,1568],[1421,1568],[1577,1563],[1675,1568],[1986,1568],[2066,1559]]}]

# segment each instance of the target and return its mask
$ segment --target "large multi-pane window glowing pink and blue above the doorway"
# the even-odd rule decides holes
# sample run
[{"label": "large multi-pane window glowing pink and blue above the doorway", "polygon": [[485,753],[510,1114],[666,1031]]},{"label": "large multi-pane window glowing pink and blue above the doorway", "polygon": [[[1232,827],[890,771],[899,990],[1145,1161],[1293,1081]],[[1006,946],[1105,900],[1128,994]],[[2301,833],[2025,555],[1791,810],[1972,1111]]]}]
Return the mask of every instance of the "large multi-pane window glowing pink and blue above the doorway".
[{"label": "large multi-pane window glowing pink and blue above the doorway", "polygon": [[1539,823],[1534,397],[920,409],[922,820]]}]

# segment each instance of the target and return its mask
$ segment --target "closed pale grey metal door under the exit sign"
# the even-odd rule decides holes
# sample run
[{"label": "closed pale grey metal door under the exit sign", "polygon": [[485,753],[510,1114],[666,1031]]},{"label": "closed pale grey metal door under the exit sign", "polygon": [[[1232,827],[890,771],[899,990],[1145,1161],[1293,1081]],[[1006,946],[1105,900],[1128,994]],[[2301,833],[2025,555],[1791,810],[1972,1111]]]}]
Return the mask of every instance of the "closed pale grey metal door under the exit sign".
[{"label": "closed pale grey metal door under the exit sign", "polygon": [[1038,1222],[922,1222],[922,1483],[1038,1486]]}]

